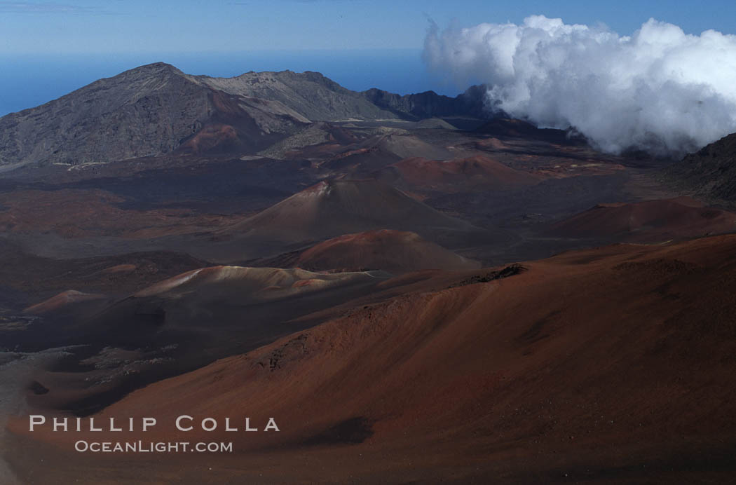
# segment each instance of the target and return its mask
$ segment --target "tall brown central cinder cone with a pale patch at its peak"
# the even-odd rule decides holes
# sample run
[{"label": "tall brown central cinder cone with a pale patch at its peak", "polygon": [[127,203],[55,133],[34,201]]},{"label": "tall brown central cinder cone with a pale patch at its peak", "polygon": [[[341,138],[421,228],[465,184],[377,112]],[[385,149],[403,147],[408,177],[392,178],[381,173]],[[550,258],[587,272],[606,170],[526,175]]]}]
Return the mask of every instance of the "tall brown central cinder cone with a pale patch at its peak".
[{"label": "tall brown central cinder cone with a pale patch at its peak", "polygon": [[[325,180],[223,231],[233,238],[220,258],[251,248],[277,255],[314,241],[373,229],[411,230],[436,241],[447,233],[477,230],[376,180]],[[438,241],[439,242],[439,241]]]}]

